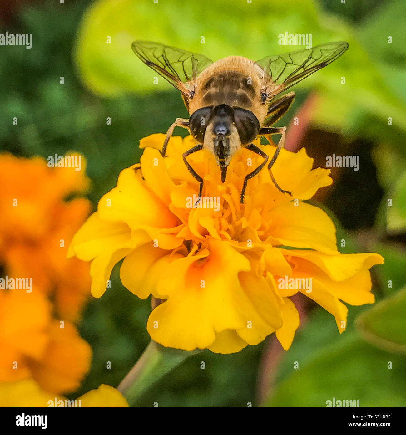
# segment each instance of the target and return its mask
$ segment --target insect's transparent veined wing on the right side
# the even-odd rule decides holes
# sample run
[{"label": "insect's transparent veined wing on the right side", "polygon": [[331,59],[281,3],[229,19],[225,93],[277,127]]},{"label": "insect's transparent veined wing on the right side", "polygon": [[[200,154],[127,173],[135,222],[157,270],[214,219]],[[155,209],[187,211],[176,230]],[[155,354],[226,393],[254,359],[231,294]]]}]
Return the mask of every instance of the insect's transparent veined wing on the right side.
[{"label": "insect's transparent veined wing on the right side", "polygon": [[331,64],[347,48],[348,43],[345,41],[330,42],[279,56],[267,56],[257,60],[256,64],[264,70],[264,88],[268,89],[269,97],[272,98]]}]

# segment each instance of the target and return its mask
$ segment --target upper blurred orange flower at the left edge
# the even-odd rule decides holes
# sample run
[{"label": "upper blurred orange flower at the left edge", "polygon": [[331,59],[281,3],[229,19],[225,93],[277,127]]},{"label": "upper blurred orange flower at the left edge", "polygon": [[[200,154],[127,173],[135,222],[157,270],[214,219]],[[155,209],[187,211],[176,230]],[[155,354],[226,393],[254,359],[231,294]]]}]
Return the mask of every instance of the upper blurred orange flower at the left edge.
[{"label": "upper blurred orange flower at the left edge", "polygon": [[[43,291],[60,316],[74,321],[86,301],[89,267],[67,260],[73,234],[89,216],[90,201],[69,195],[88,189],[86,162],[75,167],[48,167],[45,159],[0,154],[0,264],[12,278],[32,278],[33,291]],[[4,276],[0,277],[4,278]]]}]

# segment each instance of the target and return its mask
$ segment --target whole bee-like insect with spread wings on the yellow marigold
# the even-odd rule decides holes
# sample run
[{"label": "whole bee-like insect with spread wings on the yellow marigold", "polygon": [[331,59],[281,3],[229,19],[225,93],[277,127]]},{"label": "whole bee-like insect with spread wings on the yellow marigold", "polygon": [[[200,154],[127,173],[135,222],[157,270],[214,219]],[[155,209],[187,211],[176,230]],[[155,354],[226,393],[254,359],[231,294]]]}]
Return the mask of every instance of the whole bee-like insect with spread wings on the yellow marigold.
[{"label": "whole bee-like insect with spread wings on the yellow marigold", "polygon": [[[272,181],[279,191],[290,194],[277,184],[271,167],[284,146],[286,127],[271,127],[289,109],[295,93],[274,97],[315,71],[336,60],[348,48],[347,42],[330,42],[287,54],[267,56],[256,62],[232,56],[212,62],[202,54],[191,53],[161,43],[135,41],[134,53],[149,67],[168,80],[182,93],[189,119],[177,118],[169,127],[162,147],[165,156],[175,127],[187,128],[197,144],[182,157],[189,172],[203,189],[203,178],[195,172],[186,157],[207,149],[220,167],[224,183],[227,167],[241,148],[259,154],[264,161],[244,178],[240,202],[244,203],[248,180],[267,164]],[[269,156],[252,143],[257,136],[281,134],[277,148]]]}]

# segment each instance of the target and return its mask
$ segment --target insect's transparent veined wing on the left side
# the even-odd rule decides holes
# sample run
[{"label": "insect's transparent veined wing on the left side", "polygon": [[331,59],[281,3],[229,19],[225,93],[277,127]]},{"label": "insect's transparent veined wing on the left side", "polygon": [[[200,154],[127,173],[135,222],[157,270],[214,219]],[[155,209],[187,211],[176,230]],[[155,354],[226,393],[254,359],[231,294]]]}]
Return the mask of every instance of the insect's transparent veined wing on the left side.
[{"label": "insect's transparent veined wing on the left side", "polygon": [[169,47],[158,42],[135,41],[132,50],[146,65],[178,88],[186,97],[196,84],[196,78],[213,62],[202,54]]}]

